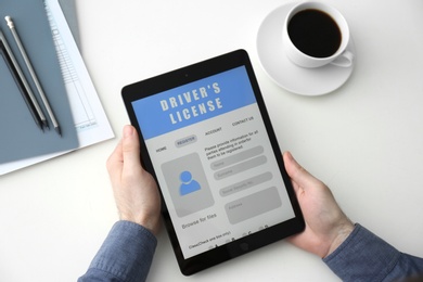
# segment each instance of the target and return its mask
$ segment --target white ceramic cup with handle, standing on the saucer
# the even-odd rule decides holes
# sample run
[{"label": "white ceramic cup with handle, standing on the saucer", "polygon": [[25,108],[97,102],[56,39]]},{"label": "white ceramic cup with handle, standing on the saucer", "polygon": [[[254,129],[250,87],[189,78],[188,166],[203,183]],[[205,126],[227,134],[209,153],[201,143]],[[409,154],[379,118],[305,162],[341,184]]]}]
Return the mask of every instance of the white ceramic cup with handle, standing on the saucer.
[{"label": "white ceramic cup with handle, standing on the saucer", "polygon": [[[316,10],[319,12],[323,12],[325,13],[325,16],[329,15],[337,25],[338,30],[341,33],[341,42],[337,42],[336,44],[333,46],[333,48],[335,48],[335,46],[338,46],[337,49],[333,49],[336,50],[333,53],[324,56],[320,56],[320,55],[317,56],[310,51],[305,51],[305,48],[303,48],[303,50],[298,49],[298,47],[299,48],[302,47],[298,44],[299,41],[297,39],[294,39],[297,37],[294,36],[295,34],[293,31],[293,27],[292,26],[290,27],[290,24],[294,23],[292,22],[292,20],[295,15],[296,17],[294,17],[294,20],[298,21],[299,18],[298,13],[307,10],[313,10],[313,12],[316,12]],[[311,23],[311,21],[305,21],[305,23],[308,24]],[[307,27],[307,30],[309,30],[309,28],[311,27]],[[291,29],[289,30],[289,28]],[[291,31],[291,36],[290,36],[290,31]],[[303,34],[304,36],[306,36],[306,33]],[[297,33],[297,35],[303,36],[302,33]],[[312,68],[312,67],[320,67],[326,64],[333,64],[341,67],[349,67],[352,65],[354,54],[347,50],[347,46],[350,38],[348,24],[344,18],[344,16],[336,9],[328,4],[320,3],[320,2],[300,2],[294,5],[290,10],[285,18],[282,37],[283,37],[282,40],[283,40],[284,52],[286,53],[287,57],[298,66]],[[296,41],[297,44],[295,44],[293,40],[297,40]],[[318,44],[305,44],[305,46],[318,46]]]}]

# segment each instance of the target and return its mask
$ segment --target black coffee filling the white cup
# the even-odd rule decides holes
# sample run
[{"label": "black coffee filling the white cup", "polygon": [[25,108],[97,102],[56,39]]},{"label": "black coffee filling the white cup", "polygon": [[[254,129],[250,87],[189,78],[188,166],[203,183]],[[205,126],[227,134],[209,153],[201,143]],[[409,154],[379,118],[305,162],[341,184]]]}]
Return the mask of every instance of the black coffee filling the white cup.
[{"label": "black coffee filling the white cup", "polygon": [[287,25],[287,34],[294,46],[315,57],[333,55],[341,46],[341,30],[326,13],[308,9],[296,13]]}]

